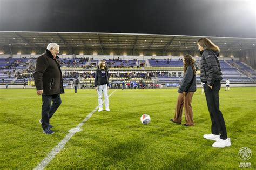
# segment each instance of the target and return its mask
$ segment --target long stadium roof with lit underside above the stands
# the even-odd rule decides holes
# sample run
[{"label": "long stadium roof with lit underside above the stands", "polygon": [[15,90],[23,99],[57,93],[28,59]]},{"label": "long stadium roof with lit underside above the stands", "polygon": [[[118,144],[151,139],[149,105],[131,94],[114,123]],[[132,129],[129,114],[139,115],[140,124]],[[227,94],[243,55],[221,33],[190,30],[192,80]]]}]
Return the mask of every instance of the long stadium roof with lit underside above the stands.
[{"label": "long stadium roof with lit underside above the stands", "polygon": [[[144,35],[122,33],[72,33],[72,32],[19,32],[0,31],[0,47],[46,48],[55,42],[62,49],[137,49],[173,51],[196,51],[199,36]],[[255,38],[207,37],[221,51],[241,51],[255,48]]]}]

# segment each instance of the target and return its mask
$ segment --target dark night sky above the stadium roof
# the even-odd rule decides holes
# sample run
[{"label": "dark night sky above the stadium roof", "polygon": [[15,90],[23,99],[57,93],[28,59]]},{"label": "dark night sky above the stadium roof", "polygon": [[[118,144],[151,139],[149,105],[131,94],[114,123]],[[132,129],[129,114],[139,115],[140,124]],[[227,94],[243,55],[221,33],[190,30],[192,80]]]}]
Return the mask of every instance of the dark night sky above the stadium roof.
[{"label": "dark night sky above the stadium roof", "polygon": [[253,0],[0,0],[1,31],[256,38]]}]

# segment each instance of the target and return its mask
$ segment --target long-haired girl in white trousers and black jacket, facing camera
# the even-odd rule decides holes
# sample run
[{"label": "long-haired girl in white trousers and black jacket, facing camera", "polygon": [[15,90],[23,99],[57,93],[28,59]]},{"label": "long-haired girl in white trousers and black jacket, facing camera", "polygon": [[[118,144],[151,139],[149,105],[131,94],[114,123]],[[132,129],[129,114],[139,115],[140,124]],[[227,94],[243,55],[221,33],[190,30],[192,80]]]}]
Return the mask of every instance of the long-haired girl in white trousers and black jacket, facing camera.
[{"label": "long-haired girl in white trousers and black jacket, facing camera", "polygon": [[102,92],[104,93],[105,110],[110,111],[109,96],[107,94],[107,88],[109,86],[109,73],[107,71],[106,62],[104,60],[99,62],[99,66],[95,73],[94,85],[95,85],[96,91],[98,92],[98,101],[99,101],[98,112],[103,111]]}]

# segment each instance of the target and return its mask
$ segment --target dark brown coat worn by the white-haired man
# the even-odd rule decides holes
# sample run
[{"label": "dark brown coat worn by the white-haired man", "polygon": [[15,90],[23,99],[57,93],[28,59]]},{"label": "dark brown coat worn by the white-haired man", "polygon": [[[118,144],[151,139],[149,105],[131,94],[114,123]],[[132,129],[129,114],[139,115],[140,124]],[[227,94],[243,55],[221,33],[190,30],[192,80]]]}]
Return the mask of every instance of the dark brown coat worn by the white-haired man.
[{"label": "dark brown coat worn by the white-haired man", "polygon": [[[59,58],[56,56],[56,58]],[[37,90],[43,90],[42,95],[64,93],[62,71],[49,50],[37,58],[36,70],[33,74]]]}]

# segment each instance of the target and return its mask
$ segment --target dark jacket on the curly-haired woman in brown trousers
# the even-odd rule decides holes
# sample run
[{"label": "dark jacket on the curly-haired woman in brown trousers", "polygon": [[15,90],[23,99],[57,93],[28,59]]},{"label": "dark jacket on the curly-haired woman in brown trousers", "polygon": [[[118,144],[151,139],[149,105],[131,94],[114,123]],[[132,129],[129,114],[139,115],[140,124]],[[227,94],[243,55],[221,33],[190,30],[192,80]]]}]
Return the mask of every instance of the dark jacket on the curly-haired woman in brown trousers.
[{"label": "dark jacket on the curly-haired woman in brown trousers", "polygon": [[181,85],[179,86],[179,93],[195,92],[197,90],[197,78],[193,72],[192,66],[188,66],[186,73],[183,76]]}]

